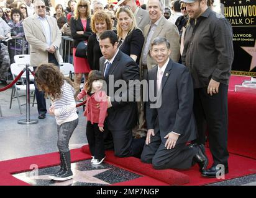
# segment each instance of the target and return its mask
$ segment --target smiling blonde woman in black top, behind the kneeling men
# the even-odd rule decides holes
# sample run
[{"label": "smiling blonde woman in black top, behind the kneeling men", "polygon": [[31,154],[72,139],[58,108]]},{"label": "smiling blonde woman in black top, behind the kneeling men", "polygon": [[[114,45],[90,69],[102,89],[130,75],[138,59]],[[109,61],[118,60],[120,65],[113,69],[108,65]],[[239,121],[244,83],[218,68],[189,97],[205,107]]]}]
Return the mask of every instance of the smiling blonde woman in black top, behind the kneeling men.
[{"label": "smiling blonde woman in black top, behind the kneeling men", "polygon": [[144,44],[144,35],[137,27],[134,14],[129,6],[122,6],[116,12],[118,47],[139,65]]}]

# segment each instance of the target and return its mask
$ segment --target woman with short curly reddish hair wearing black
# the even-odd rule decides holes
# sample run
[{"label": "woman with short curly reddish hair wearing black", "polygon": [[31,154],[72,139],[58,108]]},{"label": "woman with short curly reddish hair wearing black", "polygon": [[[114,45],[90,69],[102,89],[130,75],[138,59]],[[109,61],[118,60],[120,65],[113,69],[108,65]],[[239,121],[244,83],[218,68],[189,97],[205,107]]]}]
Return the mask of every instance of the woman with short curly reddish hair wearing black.
[{"label": "woman with short curly reddish hair wearing black", "polygon": [[104,11],[96,12],[91,17],[91,30],[93,30],[94,34],[88,40],[87,57],[91,70],[99,70],[99,58],[103,56],[99,48],[99,35],[105,30],[112,30],[112,22],[109,15]]}]

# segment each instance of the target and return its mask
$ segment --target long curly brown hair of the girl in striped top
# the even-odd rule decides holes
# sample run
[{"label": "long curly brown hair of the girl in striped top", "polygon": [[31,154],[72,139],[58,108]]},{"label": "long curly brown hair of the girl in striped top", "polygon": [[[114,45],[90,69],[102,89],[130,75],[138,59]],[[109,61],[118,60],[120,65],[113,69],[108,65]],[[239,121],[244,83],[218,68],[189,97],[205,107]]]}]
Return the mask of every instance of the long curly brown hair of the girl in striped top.
[{"label": "long curly brown hair of the girl in striped top", "polygon": [[70,79],[64,77],[60,69],[55,64],[41,64],[35,71],[35,82],[40,91],[45,92],[45,97],[51,100],[62,97],[62,85],[64,80],[73,86]]}]

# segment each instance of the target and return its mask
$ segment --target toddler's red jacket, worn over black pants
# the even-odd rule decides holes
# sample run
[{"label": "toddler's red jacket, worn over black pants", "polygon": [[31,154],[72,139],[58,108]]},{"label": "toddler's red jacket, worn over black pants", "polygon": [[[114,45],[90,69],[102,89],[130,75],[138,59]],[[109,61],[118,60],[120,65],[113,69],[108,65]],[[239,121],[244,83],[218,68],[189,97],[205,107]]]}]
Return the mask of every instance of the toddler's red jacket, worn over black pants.
[{"label": "toddler's red jacket, worn over black pants", "polygon": [[[86,116],[87,121],[91,124],[98,123],[98,126],[104,126],[104,120],[107,116],[107,99],[106,93],[104,91],[99,91],[93,93],[89,96],[83,89],[79,94],[79,98],[83,98],[86,95],[86,110],[84,116]],[[96,105],[99,104],[99,108]]]}]

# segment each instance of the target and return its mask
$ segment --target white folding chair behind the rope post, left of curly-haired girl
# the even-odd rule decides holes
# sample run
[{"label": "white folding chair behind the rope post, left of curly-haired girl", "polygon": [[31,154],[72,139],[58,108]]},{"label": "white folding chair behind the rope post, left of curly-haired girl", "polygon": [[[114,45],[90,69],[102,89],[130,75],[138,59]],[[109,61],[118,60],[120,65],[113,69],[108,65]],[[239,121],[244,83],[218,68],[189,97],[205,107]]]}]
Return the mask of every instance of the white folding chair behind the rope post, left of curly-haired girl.
[{"label": "white folding chair behind the rope post, left of curly-haired girl", "polygon": [[[12,72],[12,77],[13,77],[13,79],[15,79],[16,76],[19,75],[19,73],[24,68],[24,65],[18,65],[17,63],[12,63],[10,68],[11,68],[11,72]],[[30,66],[29,69],[31,71],[33,71],[33,67]],[[26,90],[27,90],[26,85],[25,85],[25,80],[26,80],[25,78],[26,78],[26,74],[24,72],[21,76],[21,80],[18,80],[16,82],[16,84],[14,84],[12,86],[11,101],[10,101],[10,109],[11,109],[12,108],[12,100],[14,98],[17,98],[17,101],[19,104],[19,111],[21,114],[22,114],[21,106],[23,106],[25,104],[21,105],[21,101],[20,101],[19,97],[25,97],[25,95],[19,95],[19,92],[26,92]],[[31,80],[34,80],[34,76],[32,74],[29,74],[29,78]],[[32,106],[34,106],[34,104],[35,104],[35,85],[29,84],[29,88],[30,88],[30,92],[33,94],[33,95],[30,95],[30,97],[33,97]]]}]

